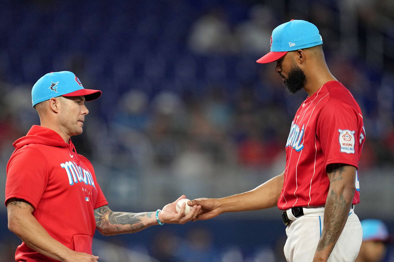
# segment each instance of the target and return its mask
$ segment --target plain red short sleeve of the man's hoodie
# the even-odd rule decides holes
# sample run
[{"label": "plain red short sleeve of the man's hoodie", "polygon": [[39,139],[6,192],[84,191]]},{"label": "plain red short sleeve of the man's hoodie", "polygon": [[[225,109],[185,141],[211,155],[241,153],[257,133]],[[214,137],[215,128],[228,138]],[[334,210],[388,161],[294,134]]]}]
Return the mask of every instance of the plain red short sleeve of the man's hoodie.
[{"label": "plain red short sleeve of the man's hoodie", "polygon": [[44,156],[35,148],[23,148],[13,153],[7,164],[5,205],[15,197],[37,208],[48,182],[45,162]]}]

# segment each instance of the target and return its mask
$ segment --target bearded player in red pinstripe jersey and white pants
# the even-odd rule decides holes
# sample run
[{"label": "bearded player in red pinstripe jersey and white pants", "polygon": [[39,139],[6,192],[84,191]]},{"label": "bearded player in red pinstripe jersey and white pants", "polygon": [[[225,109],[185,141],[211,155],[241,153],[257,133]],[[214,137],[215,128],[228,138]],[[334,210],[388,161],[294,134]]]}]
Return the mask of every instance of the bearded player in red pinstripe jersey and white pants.
[{"label": "bearded player in red pinstripe jersey and white pants", "polygon": [[288,92],[308,93],[290,125],[284,172],[255,189],[221,199],[194,199],[196,220],[277,206],[286,225],[288,262],[355,261],[362,229],[357,172],[365,130],[359,105],[329,71],[318,28],[291,20],[275,28],[271,52]]}]

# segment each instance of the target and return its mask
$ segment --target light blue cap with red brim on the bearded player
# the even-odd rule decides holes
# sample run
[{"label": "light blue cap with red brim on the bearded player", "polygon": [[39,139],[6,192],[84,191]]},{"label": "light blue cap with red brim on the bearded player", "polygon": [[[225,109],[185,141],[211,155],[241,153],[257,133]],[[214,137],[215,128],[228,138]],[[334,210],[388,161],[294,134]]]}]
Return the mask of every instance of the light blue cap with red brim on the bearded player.
[{"label": "light blue cap with red brim on the bearded player", "polygon": [[289,51],[323,44],[318,28],[304,20],[290,20],[277,26],[271,35],[271,52],[258,59],[257,63],[277,61]]}]

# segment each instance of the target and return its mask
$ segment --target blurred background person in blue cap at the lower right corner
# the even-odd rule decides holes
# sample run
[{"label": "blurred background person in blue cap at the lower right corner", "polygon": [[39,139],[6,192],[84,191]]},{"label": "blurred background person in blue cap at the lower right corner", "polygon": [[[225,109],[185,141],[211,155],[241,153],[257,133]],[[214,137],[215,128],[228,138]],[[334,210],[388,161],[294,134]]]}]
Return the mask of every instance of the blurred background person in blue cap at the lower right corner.
[{"label": "blurred background person in blue cap at the lower right corner", "polygon": [[362,244],[355,262],[382,262],[387,252],[387,244],[392,242],[387,226],[377,219],[361,221]]}]

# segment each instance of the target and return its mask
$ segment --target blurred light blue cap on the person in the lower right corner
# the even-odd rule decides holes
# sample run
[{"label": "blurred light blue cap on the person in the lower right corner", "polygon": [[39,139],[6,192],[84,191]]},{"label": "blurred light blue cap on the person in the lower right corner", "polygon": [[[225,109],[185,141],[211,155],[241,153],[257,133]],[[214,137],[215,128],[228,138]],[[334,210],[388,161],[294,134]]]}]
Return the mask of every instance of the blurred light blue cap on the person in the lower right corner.
[{"label": "blurred light blue cap on the person in the lower right corner", "polygon": [[391,242],[388,229],[383,221],[378,219],[366,219],[361,221],[362,241]]}]

